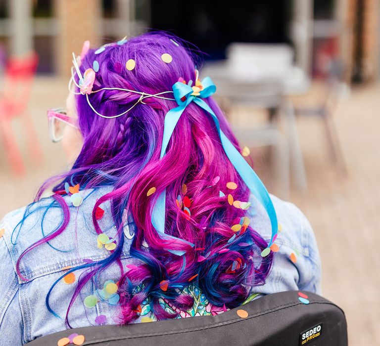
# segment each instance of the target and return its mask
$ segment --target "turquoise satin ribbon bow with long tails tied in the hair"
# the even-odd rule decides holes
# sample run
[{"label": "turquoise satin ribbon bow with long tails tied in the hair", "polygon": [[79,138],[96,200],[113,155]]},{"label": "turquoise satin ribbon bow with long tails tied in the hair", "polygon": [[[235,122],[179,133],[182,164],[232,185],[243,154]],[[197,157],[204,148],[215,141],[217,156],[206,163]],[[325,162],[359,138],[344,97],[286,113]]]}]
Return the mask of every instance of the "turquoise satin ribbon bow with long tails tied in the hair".
[{"label": "turquoise satin ribbon bow with long tails tied in the hair", "polygon": [[[257,176],[257,174],[252,170],[249,164],[245,161],[245,159],[241,156],[235,146],[230,142],[227,136],[220,130],[220,124],[217,116],[213,112],[213,110],[208,106],[206,102],[202,100],[202,98],[207,98],[211,96],[216,91],[216,86],[212,82],[210,77],[206,77],[201,82],[202,89],[199,91],[198,95],[194,94],[194,90],[187,84],[182,82],[177,82],[173,85],[174,98],[178,103],[178,107],[171,109],[165,115],[164,121],[164,134],[162,139],[161,146],[161,155],[160,159],[165,155],[166,148],[169,144],[170,137],[172,136],[173,130],[177,125],[178,120],[180,119],[182,113],[186,109],[186,107],[190,104],[190,102],[195,102],[199,107],[204,109],[210,116],[212,117],[216,129],[218,130],[220,141],[222,143],[223,149],[241,176],[244,183],[248,186],[249,190],[255,195],[255,197],[259,200],[259,202],[264,206],[272,226],[272,236],[271,240],[268,244],[270,247],[276,237],[278,231],[278,222],[276,211],[273,206],[272,200],[269,197],[268,191],[265,188],[264,184]],[[176,239],[182,242],[185,242],[191,246],[194,244],[177,237],[170,236],[165,234],[165,191],[163,191],[156,203],[153,206],[151,221],[154,228],[157,232],[166,239]],[[176,251],[176,250],[168,250],[173,254],[182,256],[185,254],[185,251]]]}]

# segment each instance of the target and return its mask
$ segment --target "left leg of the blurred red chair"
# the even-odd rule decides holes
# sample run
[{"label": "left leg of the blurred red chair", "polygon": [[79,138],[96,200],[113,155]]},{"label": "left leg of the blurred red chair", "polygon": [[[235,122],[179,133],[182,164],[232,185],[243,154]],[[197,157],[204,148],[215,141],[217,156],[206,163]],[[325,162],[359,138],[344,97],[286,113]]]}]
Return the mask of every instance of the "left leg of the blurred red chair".
[{"label": "left leg of the blurred red chair", "polygon": [[25,166],[22,161],[21,153],[14,139],[10,120],[0,120],[0,132],[4,141],[5,153],[8,156],[12,169],[17,174],[25,173]]}]

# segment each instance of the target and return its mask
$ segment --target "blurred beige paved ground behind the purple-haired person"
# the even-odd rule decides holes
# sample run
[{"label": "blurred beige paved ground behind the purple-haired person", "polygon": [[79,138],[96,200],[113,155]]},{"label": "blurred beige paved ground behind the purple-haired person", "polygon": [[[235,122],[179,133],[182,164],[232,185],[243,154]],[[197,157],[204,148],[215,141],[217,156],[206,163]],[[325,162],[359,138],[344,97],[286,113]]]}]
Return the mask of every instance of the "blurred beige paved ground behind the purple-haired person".
[{"label": "blurred beige paved ground behind the purple-haired person", "polygon": [[[314,228],[323,260],[323,292],[345,310],[351,346],[380,345],[379,92],[380,86],[355,89],[337,109],[335,122],[348,167],[346,176],[331,164],[321,122],[298,121],[309,189],[304,195],[292,190],[290,200]],[[47,137],[46,109],[64,105],[65,94],[65,82],[40,78],[36,83],[30,109],[45,160],[35,162],[29,157],[25,136],[16,122],[27,175],[15,176],[0,156],[0,215],[30,202],[38,185],[64,168],[59,144],[50,143]],[[269,165],[265,152],[256,152],[261,156],[260,171]]]}]

